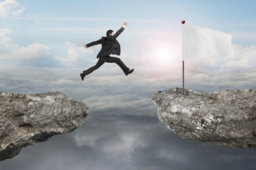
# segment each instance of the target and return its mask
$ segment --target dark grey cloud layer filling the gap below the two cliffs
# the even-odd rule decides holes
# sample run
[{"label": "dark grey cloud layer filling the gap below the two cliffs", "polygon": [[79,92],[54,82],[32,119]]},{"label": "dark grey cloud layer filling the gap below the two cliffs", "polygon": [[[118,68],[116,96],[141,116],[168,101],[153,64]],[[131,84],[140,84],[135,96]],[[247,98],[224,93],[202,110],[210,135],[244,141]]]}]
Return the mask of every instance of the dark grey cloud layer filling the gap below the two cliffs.
[{"label": "dark grey cloud layer filling the gap below the two cliffs", "polygon": [[[21,150],[1,169],[254,169],[255,152],[183,140],[152,110],[92,111],[75,132]],[[147,115],[149,113],[149,115]],[[26,162],[26,164],[24,164]]]}]

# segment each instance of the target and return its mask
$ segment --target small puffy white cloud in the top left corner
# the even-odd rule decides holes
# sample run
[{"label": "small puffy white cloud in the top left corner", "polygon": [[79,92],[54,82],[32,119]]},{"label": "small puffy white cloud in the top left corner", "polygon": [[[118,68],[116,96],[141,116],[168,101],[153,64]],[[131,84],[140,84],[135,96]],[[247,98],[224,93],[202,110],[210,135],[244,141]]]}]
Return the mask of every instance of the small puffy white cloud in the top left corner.
[{"label": "small puffy white cloud in the top left corner", "polygon": [[17,1],[6,0],[0,2],[0,16],[22,16],[26,11],[24,6],[21,6]]}]

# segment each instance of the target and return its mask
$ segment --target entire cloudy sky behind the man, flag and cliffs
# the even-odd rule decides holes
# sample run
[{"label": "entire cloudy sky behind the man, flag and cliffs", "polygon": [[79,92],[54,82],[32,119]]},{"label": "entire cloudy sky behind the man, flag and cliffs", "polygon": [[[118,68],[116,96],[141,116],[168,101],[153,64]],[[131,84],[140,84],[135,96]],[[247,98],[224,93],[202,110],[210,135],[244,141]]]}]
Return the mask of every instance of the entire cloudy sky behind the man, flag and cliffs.
[{"label": "entire cloudy sky behind the man, flag and cliffs", "polygon": [[[203,93],[256,84],[256,1],[0,1],[0,91],[60,91],[83,101],[90,115],[77,130],[23,148],[0,169],[255,169],[253,149],[183,140],[161,124],[156,91],[182,87],[182,24],[233,35],[233,57],[185,62],[185,88]],[[134,69],[97,62],[100,45],[115,32],[119,56]]]}]

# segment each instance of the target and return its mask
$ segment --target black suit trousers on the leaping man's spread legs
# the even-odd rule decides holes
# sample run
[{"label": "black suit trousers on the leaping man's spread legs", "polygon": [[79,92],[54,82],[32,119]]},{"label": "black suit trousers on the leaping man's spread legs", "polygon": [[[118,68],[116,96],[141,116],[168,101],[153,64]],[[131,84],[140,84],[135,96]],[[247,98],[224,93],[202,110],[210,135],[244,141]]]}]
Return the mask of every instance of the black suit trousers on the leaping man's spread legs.
[{"label": "black suit trousers on the leaping man's spread legs", "polygon": [[121,59],[119,59],[118,57],[110,57],[109,55],[107,55],[107,56],[100,56],[95,66],[90,67],[89,69],[86,69],[82,73],[86,76],[87,74],[90,74],[96,69],[100,68],[102,64],[104,64],[105,62],[116,63],[122,69],[124,74],[127,74],[127,72],[129,71],[129,68],[122,62]]}]

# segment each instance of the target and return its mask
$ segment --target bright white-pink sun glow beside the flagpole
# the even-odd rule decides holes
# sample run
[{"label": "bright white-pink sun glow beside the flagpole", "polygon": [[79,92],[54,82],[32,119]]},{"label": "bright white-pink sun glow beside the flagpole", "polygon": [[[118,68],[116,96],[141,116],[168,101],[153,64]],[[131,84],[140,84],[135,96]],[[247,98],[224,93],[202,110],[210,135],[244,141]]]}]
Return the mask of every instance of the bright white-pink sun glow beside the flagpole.
[{"label": "bright white-pink sun glow beside the flagpole", "polygon": [[170,76],[181,65],[181,39],[169,33],[152,36],[144,44],[144,67],[157,77]]}]

